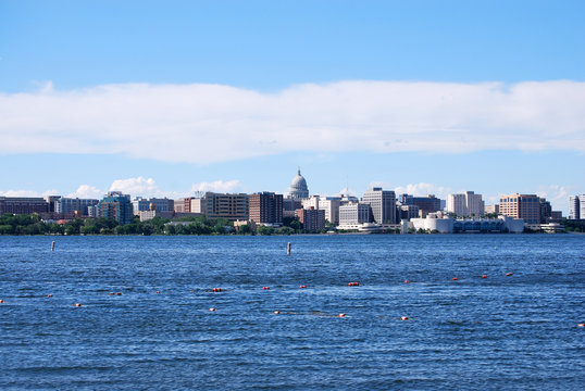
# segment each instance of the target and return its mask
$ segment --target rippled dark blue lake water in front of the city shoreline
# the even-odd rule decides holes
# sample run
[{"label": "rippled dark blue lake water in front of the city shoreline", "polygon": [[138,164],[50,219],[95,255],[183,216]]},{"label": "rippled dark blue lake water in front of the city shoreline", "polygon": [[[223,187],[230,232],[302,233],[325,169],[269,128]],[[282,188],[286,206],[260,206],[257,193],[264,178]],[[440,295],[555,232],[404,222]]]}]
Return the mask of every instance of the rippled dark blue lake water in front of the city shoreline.
[{"label": "rippled dark blue lake water in front of the city shoreline", "polygon": [[0,237],[0,299],[2,390],[585,386],[585,236]]}]

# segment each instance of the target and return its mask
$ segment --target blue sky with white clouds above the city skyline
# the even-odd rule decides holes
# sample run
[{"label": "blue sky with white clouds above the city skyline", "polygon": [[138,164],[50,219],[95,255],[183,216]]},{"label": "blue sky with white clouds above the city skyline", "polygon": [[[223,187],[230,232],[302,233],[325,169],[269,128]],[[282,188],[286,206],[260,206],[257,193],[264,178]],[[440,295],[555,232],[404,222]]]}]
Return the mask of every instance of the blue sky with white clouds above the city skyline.
[{"label": "blue sky with white clouds above the city skyline", "polygon": [[585,193],[584,1],[0,0],[0,195]]}]

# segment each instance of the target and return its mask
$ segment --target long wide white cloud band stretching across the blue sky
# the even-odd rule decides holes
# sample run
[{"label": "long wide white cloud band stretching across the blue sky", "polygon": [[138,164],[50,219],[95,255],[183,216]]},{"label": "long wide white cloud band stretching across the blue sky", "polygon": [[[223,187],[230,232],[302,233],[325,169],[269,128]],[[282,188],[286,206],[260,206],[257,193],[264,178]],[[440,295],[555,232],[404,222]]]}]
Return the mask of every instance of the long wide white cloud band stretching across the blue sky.
[{"label": "long wide white cloud band stretching across the blue sky", "polygon": [[0,153],[213,163],[290,151],[585,151],[585,83],[339,81],[277,93],[105,85],[0,93]]}]

